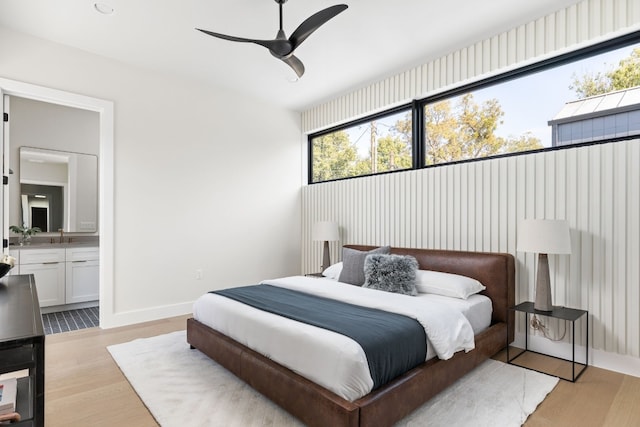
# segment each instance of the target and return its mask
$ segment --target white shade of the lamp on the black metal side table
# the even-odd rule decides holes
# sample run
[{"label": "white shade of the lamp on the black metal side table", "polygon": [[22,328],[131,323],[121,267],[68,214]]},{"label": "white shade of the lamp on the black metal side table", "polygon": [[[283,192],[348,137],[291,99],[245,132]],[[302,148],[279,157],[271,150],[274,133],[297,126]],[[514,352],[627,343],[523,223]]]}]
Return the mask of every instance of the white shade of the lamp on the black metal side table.
[{"label": "white shade of the lamp on the black metal side table", "polygon": [[555,219],[525,219],[518,228],[520,252],[570,254],[569,222]]}]

